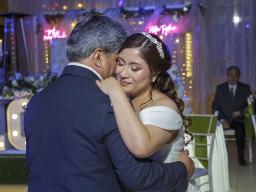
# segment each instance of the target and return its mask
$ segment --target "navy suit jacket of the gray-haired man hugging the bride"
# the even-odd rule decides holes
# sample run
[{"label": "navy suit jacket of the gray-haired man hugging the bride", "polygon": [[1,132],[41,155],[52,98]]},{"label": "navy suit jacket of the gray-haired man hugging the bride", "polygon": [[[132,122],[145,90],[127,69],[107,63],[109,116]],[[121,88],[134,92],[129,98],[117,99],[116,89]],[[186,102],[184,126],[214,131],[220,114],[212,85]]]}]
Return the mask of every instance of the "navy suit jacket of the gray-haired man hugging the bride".
[{"label": "navy suit jacket of the gray-haired man hugging the bride", "polygon": [[29,192],[186,191],[186,166],[128,151],[92,71],[66,66],[33,96],[24,116]]}]

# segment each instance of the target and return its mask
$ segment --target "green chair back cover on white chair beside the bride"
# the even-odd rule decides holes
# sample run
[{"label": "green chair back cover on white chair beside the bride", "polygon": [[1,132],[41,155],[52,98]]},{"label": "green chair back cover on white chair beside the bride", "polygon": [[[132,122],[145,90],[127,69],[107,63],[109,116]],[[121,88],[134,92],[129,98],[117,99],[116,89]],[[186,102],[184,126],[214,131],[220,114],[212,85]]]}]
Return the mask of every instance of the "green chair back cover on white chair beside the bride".
[{"label": "green chair back cover on white chair beside the bride", "polygon": [[[192,124],[188,128],[192,133],[214,133],[216,131],[217,115],[188,115],[192,119]],[[187,123],[187,122],[186,122]],[[206,136],[194,136],[195,144],[207,144]],[[195,146],[195,156],[207,158],[207,146]],[[208,160],[199,160],[205,168],[208,168]]]}]

